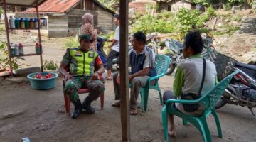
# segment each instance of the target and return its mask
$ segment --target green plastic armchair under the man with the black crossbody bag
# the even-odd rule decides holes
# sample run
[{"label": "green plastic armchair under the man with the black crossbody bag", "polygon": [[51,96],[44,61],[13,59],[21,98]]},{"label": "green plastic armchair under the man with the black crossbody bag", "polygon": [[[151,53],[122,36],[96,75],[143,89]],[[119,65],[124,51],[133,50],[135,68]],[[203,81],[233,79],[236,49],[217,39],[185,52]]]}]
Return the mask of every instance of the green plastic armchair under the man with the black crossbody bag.
[{"label": "green plastic armchair under the man with the black crossbody bag", "polygon": [[[181,117],[184,125],[187,125],[189,122],[193,124],[193,126],[196,126],[196,128],[201,132],[201,135],[203,136],[203,140],[205,142],[211,141],[210,130],[208,128],[206,118],[210,114],[213,114],[216,125],[217,125],[217,129],[218,129],[218,137],[222,138],[220,121],[215,111],[215,104],[216,102],[218,102],[218,99],[220,99],[221,95],[223,94],[225,89],[228,87],[228,84],[232,79],[232,77],[238,72],[239,71],[235,71],[231,75],[228,75],[228,77],[225,77],[213,89],[211,89],[208,93],[202,95],[202,97],[200,97],[199,99],[195,99],[195,100],[169,99],[168,101],[166,101],[166,104],[162,109],[164,141],[168,142],[168,114],[174,114],[176,116]],[[183,114],[180,111],[173,109],[171,106],[173,105],[174,102],[181,103],[181,104],[197,104],[201,102],[206,105],[206,110],[201,116],[191,116],[188,114]]]}]

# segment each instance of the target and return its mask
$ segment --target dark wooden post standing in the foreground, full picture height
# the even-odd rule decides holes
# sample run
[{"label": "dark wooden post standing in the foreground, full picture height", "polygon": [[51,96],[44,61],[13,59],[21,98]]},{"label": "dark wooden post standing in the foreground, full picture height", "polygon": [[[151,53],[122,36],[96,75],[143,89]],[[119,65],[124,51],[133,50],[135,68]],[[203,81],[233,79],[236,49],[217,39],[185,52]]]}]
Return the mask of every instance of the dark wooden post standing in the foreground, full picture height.
[{"label": "dark wooden post standing in the foreground, full picture height", "polygon": [[120,92],[122,141],[130,141],[128,88],[128,1],[120,0]]}]

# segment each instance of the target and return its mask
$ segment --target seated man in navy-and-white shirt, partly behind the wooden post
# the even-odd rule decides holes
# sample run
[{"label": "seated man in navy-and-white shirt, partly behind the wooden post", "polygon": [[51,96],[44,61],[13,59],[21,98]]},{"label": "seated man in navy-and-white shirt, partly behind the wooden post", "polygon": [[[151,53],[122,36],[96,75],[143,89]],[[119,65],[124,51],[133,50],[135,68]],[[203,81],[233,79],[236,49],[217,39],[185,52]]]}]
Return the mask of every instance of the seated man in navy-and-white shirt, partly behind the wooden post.
[{"label": "seated man in navy-and-white shirt, partly behind the wooden post", "polygon": [[[149,77],[156,76],[155,53],[146,47],[146,35],[142,32],[134,33],[132,36],[133,49],[129,51],[129,64],[132,71],[129,73],[131,84],[130,92],[130,114],[137,114],[137,98],[140,88],[146,86]],[[113,75],[115,99],[120,99],[119,72]],[[112,104],[113,107],[120,107],[120,102]]]}]

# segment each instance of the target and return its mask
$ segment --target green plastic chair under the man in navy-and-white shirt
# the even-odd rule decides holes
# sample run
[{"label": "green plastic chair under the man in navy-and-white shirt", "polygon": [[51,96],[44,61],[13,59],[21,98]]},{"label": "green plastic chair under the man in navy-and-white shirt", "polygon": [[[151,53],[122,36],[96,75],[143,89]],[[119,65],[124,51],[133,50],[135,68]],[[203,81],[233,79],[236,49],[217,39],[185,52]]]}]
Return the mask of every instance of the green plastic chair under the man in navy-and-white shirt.
[{"label": "green plastic chair under the man in navy-and-white shirt", "polygon": [[156,55],[155,66],[157,75],[149,78],[145,87],[140,89],[142,99],[142,111],[146,111],[149,99],[149,89],[155,89],[159,92],[160,104],[162,105],[161,89],[159,87],[159,78],[163,77],[169,68],[170,58],[166,55]]}]

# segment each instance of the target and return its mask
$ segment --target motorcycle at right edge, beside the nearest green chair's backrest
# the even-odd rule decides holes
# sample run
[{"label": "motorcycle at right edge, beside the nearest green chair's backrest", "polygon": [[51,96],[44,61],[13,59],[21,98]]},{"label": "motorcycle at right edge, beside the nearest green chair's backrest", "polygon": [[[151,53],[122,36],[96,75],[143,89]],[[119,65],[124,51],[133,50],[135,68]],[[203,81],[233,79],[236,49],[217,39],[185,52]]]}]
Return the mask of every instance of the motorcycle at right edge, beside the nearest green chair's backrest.
[{"label": "motorcycle at right edge, beside the nearest green chair's backrest", "polygon": [[255,116],[252,109],[256,107],[256,66],[237,62],[233,70],[239,70],[239,73],[230,81],[215,109],[235,104],[248,107]]}]

